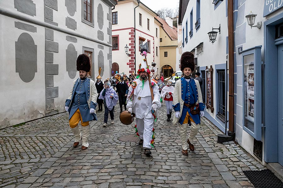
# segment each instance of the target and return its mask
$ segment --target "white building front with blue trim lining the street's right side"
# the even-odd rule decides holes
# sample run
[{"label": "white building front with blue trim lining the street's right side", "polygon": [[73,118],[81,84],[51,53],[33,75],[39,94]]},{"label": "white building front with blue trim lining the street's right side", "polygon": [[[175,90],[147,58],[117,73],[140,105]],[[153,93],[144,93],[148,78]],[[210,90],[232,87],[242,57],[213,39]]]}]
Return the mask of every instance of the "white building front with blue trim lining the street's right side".
[{"label": "white building front with blue trim lining the street's right side", "polygon": [[[235,140],[263,164],[283,165],[282,7],[281,0],[234,0]],[[183,52],[194,52],[203,78],[205,117],[223,132],[228,111],[227,10],[227,0],[180,0]],[[254,24],[246,18],[251,11]],[[214,43],[208,38],[212,28],[218,32]]]}]

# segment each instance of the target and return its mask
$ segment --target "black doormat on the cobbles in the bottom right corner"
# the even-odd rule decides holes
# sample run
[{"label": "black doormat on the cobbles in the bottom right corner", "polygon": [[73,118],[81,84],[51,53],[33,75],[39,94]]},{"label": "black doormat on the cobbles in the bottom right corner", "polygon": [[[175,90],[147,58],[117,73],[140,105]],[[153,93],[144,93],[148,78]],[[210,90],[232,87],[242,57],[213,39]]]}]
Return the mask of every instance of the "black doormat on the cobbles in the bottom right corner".
[{"label": "black doormat on the cobbles in the bottom right corner", "polygon": [[283,182],[269,169],[243,171],[255,188],[282,188]]}]

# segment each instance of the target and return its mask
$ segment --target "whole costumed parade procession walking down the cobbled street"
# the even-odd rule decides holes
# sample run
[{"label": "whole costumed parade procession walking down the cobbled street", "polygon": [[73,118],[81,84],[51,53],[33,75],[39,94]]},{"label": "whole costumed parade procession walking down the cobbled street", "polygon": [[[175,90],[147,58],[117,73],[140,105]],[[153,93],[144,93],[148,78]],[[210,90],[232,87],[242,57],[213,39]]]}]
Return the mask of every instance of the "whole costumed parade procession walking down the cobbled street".
[{"label": "whole costumed parade procession walking down the cobbled street", "polygon": [[[78,56],[76,64],[80,77],[73,82],[65,102],[65,110],[69,112],[69,127],[75,137],[73,147],[77,147],[80,142],[82,150],[89,147],[89,121],[97,120],[97,106],[98,112],[103,111],[104,106],[102,126],[108,126],[108,114],[111,124],[114,124],[114,110],[119,101],[120,114],[128,115],[129,119],[135,117],[136,135],[140,138],[138,144],[143,147],[144,154],[150,156],[155,139],[154,122],[158,121],[158,109],[164,102],[167,122],[170,122],[174,110],[172,124],[176,126],[178,123],[180,127],[181,153],[188,155],[188,148],[194,151],[193,139],[200,128],[200,117],[204,116],[205,107],[202,101],[200,74],[197,72],[196,78],[192,78],[195,68],[194,55],[191,52],[182,54],[182,76],[175,77],[175,87],[172,86],[170,77],[165,79],[165,85],[162,73],[160,77],[154,76],[154,70],[147,65],[146,56],[147,50],[142,48],[141,56],[137,59],[137,63],[140,63],[139,69],[137,73],[129,76],[116,72],[114,76],[102,81],[100,68],[96,83],[87,77],[91,69],[89,57],[85,54]],[[122,120],[121,122],[123,123]],[[188,126],[191,126],[191,131],[187,137]]]}]

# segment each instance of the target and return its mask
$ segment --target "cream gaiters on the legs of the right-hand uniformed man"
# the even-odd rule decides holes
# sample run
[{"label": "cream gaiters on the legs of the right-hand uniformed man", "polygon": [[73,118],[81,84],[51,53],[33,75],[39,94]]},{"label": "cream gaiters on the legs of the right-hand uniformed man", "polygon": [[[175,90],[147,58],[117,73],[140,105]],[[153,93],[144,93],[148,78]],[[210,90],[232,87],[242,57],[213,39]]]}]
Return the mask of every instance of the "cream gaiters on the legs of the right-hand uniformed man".
[{"label": "cream gaiters on the legs of the right-hand uniformed man", "polygon": [[[180,137],[181,137],[181,143],[182,143],[182,148],[184,150],[188,149],[188,143],[187,143],[187,129],[188,129],[188,123],[180,124]],[[196,137],[197,132],[199,130],[199,124],[196,124],[195,122],[191,121],[191,132],[189,135],[189,141],[191,144],[193,144],[193,139]]]}]

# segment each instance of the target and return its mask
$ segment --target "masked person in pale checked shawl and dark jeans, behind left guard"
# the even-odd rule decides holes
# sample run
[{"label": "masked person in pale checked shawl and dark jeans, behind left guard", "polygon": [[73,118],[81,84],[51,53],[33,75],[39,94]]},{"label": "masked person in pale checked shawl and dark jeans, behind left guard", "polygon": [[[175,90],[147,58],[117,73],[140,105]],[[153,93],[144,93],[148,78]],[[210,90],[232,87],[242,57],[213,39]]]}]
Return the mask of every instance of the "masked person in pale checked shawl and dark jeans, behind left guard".
[{"label": "masked person in pale checked shawl and dark jeans, behind left guard", "polygon": [[111,124],[114,124],[114,107],[118,102],[118,95],[111,87],[109,78],[105,79],[103,83],[104,89],[100,92],[99,99],[102,99],[104,103],[105,111],[103,127],[106,127],[108,122],[108,113],[110,114]]}]

